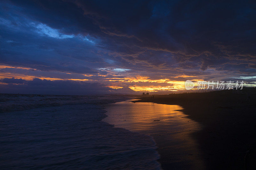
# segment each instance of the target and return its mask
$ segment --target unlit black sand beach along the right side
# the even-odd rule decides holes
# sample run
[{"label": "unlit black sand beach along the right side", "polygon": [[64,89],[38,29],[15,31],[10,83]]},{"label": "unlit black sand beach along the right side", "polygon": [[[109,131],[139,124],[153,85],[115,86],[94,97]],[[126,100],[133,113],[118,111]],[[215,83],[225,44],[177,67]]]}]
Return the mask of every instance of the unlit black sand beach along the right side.
[{"label": "unlit black sand beach along the right side", "polygon": [[[202,151],[206,169],[255,169],[255,94],[254,89],[223,90],[159,95],[153,100],[144,96],[133,102],[180,105],[188,118],[201,123],[204,128],[195,131],[193,138]],[[169,145],[164,139],[156,143],[158,147]],[[169,150],[158,152],[163,169],[169,169]]]}]

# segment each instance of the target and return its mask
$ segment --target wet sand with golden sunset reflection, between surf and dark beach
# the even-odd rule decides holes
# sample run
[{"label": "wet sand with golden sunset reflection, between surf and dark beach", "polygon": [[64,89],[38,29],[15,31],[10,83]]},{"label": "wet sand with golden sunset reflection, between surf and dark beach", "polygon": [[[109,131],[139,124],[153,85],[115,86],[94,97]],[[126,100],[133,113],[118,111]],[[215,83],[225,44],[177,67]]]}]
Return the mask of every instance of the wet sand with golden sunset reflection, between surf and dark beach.
[{"label": "wet sand with golden sunset reflection, between surf and dark beach", "polygon": [[[133,99],[134,100],[134,99]],[[178,105],[132,103],[131,100],[108,104],[104,122],[142,134],[156,141],[164,169],[204,169],[202,152],[191,134],[202,126],[186,118]]]}]

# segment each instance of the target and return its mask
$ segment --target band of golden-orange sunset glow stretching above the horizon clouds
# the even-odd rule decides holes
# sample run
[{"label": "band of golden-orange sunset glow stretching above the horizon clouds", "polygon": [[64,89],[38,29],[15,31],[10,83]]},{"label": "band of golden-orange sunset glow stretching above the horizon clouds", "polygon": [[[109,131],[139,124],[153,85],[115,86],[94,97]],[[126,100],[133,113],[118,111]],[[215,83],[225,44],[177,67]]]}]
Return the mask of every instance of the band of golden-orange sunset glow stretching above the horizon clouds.
[{"label": "band of golden-orange sunset glow stretching above the horizon clouds", "polygon": [[[20,83],[11,83],[13,85],[25,85],[28,81],[39,78],[41,80],[50,81],[81,81],[86,83],[100,83],[102,86],[113,89],[110,91],[122,89],[123,87],[129,87],[135,92],[148,91],[168,93],[168,91],[177,92],[186,90],[185,81],[173,79],[188,79],[195,82],[195,86],[197,86],[197,82],[204,81],[203,78],[195,78],[184,74],[176,75],[172,78],[164,78],[164,76],[161,76],[159,77],[160,79],[156,79],[150,78],[149,76],[141,76],[134,72],[126,72],[127,69],[124,69],[122,73],[119,71],[118,73],[107,72],[105,74],[79,74],[61,71],[44,71],[29,67],[12,67],[6,65],[0,65],[0,69],[2,70],[2,72],[0,72],[1,85],[8,85],[8,81],[4,80],[5,78],[22,79],[20,80]],[[195,90],[195,88],[192,88],[191,90]],[[125,91],[122,93],[125,93]]]}]

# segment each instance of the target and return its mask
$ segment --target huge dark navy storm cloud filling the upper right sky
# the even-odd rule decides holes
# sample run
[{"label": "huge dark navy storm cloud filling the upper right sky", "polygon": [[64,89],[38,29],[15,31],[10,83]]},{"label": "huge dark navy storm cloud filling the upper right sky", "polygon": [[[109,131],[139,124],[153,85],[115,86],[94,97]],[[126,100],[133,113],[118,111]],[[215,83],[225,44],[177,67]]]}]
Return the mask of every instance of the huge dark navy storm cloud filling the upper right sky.
[{"label": "huge dark navy storm cloud filling the upper right sky", "polygon": [[[101,49],[116,53],[120,58],[109,57],[121,63],[125,60],[124,66],[132,63],[127,62],[129,56],[135,63],[145,61],[151,66],[162,64],[162,67],[171,66],[166,62],[168,57],[173,57],[176,62],[195,62],[201,70],[225,64],[236,56],[250,56],[245,60],[242,57],[246,64],[255,59],[256,13],[252,3],[73,2],[12,1],[28,20],[67,35],[89,34],[99,39]],[[148,54],[150,51],[153,51],[152,57]],[[156,54],[157,51],[160,53]],[[158,58],[166,52],[169,54]],[[72,53],[79,57],[75,51]]]}]

